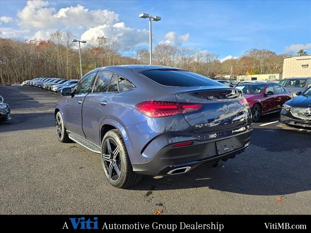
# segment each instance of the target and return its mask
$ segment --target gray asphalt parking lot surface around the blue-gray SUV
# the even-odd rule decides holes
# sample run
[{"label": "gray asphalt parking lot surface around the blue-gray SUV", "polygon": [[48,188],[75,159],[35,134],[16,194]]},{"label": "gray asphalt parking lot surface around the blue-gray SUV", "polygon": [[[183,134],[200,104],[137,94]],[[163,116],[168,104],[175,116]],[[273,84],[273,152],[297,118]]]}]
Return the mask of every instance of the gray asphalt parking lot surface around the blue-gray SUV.
[{"label": "gray asphalt parking lot surface around the blue-gray SUV", "polygon": [[277,114],[254,124],[250,148],[222,167],[122,190],[106,181],[99,154],[57,140],[60,95],[31,86],[0,86],[0,95],[12,112],[0,122],[0,214],[311,214],[311,131]]}]

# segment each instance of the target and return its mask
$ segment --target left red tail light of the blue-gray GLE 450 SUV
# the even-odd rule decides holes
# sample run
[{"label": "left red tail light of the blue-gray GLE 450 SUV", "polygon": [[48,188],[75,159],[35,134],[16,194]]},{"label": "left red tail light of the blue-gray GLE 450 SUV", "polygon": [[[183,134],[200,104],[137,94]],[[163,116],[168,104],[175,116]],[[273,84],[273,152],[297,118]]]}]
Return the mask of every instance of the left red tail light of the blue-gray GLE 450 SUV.
[{"label": "left red tail light of the blue-gray GLE 450 SUV", "polygon": [[157,118],[198,111],[202,104],[146,100],[136,104],[135,108],[146,116]]}]

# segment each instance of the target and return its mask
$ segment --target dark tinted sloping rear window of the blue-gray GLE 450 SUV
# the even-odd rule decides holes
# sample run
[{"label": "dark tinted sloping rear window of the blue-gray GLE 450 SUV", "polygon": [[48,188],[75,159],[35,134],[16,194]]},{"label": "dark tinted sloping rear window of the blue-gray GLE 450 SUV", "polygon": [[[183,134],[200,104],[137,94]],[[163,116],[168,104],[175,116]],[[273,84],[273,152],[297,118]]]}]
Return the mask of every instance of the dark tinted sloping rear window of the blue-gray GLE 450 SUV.
[{"label": "dark tinted sloping rear window of the blue-gray GLE 450 SUV", "polygon": [[165,86],[219,86],[205,76],[178,69],[151,69],[141,72],[147,78]]}]

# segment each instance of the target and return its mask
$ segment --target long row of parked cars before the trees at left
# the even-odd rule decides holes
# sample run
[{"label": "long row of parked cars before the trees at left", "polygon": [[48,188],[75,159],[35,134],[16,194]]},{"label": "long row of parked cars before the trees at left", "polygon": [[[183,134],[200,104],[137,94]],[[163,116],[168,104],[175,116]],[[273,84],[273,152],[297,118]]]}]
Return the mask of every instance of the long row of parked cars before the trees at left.
[{"label": "long row of parked cars before the trees at left", "polygon": [[29,85],[40,87],[45,90],[58,92],[63,89],[64,87],[70,87],[73,89],[75,85],[78,83],[79,80],[77,79],[58,79],[58,78],[36,78],[32,80],[27,80],[22,83],[22,85]]}]

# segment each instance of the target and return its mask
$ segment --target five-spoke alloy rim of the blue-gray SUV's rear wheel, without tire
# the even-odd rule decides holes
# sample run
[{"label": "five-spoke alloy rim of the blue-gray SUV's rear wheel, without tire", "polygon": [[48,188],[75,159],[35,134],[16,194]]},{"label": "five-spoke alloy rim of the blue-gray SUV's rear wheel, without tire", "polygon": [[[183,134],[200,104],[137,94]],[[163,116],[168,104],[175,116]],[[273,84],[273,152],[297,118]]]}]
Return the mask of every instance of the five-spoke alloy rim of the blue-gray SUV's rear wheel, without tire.
[{"label": "five-spoke alloy rim of the blue-gray SUV's rear wheel, without tire", "polygon": [[104,141],[102,159],[106,176],[111,181],[118,181],[121,177],[120,148],[114,139],[108,137]]}]

